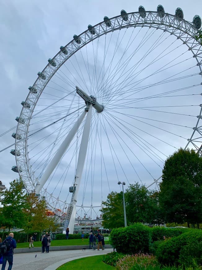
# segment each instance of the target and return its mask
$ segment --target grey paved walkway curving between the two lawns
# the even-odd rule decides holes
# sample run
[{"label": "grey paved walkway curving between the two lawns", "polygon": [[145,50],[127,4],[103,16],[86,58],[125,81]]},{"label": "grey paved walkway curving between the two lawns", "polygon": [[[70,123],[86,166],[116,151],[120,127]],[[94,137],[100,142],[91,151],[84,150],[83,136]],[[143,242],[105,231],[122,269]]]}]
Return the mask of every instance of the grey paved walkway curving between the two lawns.
[{"label": "grey paved walkway curving between the two lawns", "polygon": [[[49,253],[20,253],[13,256],[12,270],[55,270],[60,265],[83,257],[107,254],[113,249],[105,250],[61,250]],[[35,258],[35,255],[37,257]],[[6,269],[8,267],[8,263]]]}]

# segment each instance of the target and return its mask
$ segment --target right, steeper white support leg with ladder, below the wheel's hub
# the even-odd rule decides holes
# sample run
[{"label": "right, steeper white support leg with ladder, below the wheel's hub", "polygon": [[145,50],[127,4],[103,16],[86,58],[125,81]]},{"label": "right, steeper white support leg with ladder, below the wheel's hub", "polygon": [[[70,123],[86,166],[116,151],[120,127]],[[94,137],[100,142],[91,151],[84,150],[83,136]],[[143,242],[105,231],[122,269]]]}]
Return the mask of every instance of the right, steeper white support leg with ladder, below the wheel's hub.
[{"label": "right, steeper white support leg with ladder, below the wheel's hub", "polygon": [[92,104],[89,105],[88,114],[86,116],[86,122],[83,129],[83,135],[81,138],[81,146],[80,146],[79,155],[78,155],[77,170],[76,170],[76,175],[74,178],[74,184],[75,184],[76,190],[74,193],[72,214],[71,214],[71,218],[68,225],[69,233],[71,234],[73,233],[73,230],[74,230],[74,222],[75,222],[75,217],[76,217],[75,206],[77,203],[77,196],[78,196],[79,186],[81,182],[81,175],[83,172],[83,167],[84,167],[84,163],[86,159],[88,140],[89,140],[89,135],[90,135],[91,115],[92,115]]}]

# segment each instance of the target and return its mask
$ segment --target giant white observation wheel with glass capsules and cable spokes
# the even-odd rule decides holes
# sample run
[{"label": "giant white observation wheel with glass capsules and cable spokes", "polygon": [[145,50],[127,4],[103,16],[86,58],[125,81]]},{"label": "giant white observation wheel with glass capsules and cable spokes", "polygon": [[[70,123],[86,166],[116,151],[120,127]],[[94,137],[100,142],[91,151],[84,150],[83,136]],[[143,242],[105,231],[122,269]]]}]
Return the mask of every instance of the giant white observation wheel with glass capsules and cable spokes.
[{"label": "giant white observation wheel with glass capsules and cable spokes", "polygon": [[180,8],[122,10],[75,34],[38,72],[16,117],[12,170],[70,232],[77,215],[96,219],[118,181],[149,187],[179,147],[200,153],[200,27]]}]

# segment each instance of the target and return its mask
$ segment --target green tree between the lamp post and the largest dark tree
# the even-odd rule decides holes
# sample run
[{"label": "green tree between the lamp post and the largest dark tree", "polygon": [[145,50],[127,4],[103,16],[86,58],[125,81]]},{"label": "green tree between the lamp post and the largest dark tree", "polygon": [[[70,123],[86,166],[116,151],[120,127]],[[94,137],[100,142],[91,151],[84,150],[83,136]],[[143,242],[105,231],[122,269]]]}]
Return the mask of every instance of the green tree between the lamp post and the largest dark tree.
[{"label": "green tree between the lamp post and the largest dark tree", "polygon": [[158,192],[135,183],[125,191],[126,217],[130,223],[161,223]]}]

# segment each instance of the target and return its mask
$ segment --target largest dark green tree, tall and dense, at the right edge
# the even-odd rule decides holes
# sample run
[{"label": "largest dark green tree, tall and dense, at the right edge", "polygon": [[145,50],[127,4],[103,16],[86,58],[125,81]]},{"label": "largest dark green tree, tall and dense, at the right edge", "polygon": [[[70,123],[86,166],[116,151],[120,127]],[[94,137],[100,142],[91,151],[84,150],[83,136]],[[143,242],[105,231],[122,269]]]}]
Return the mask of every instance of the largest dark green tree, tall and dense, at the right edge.
[{"label": "largest dark green tree, tall and dense, at the right edge", "polygon": [[202,159],[180,148],[165,161],[159,193],[166,222],[202,222]]}]

